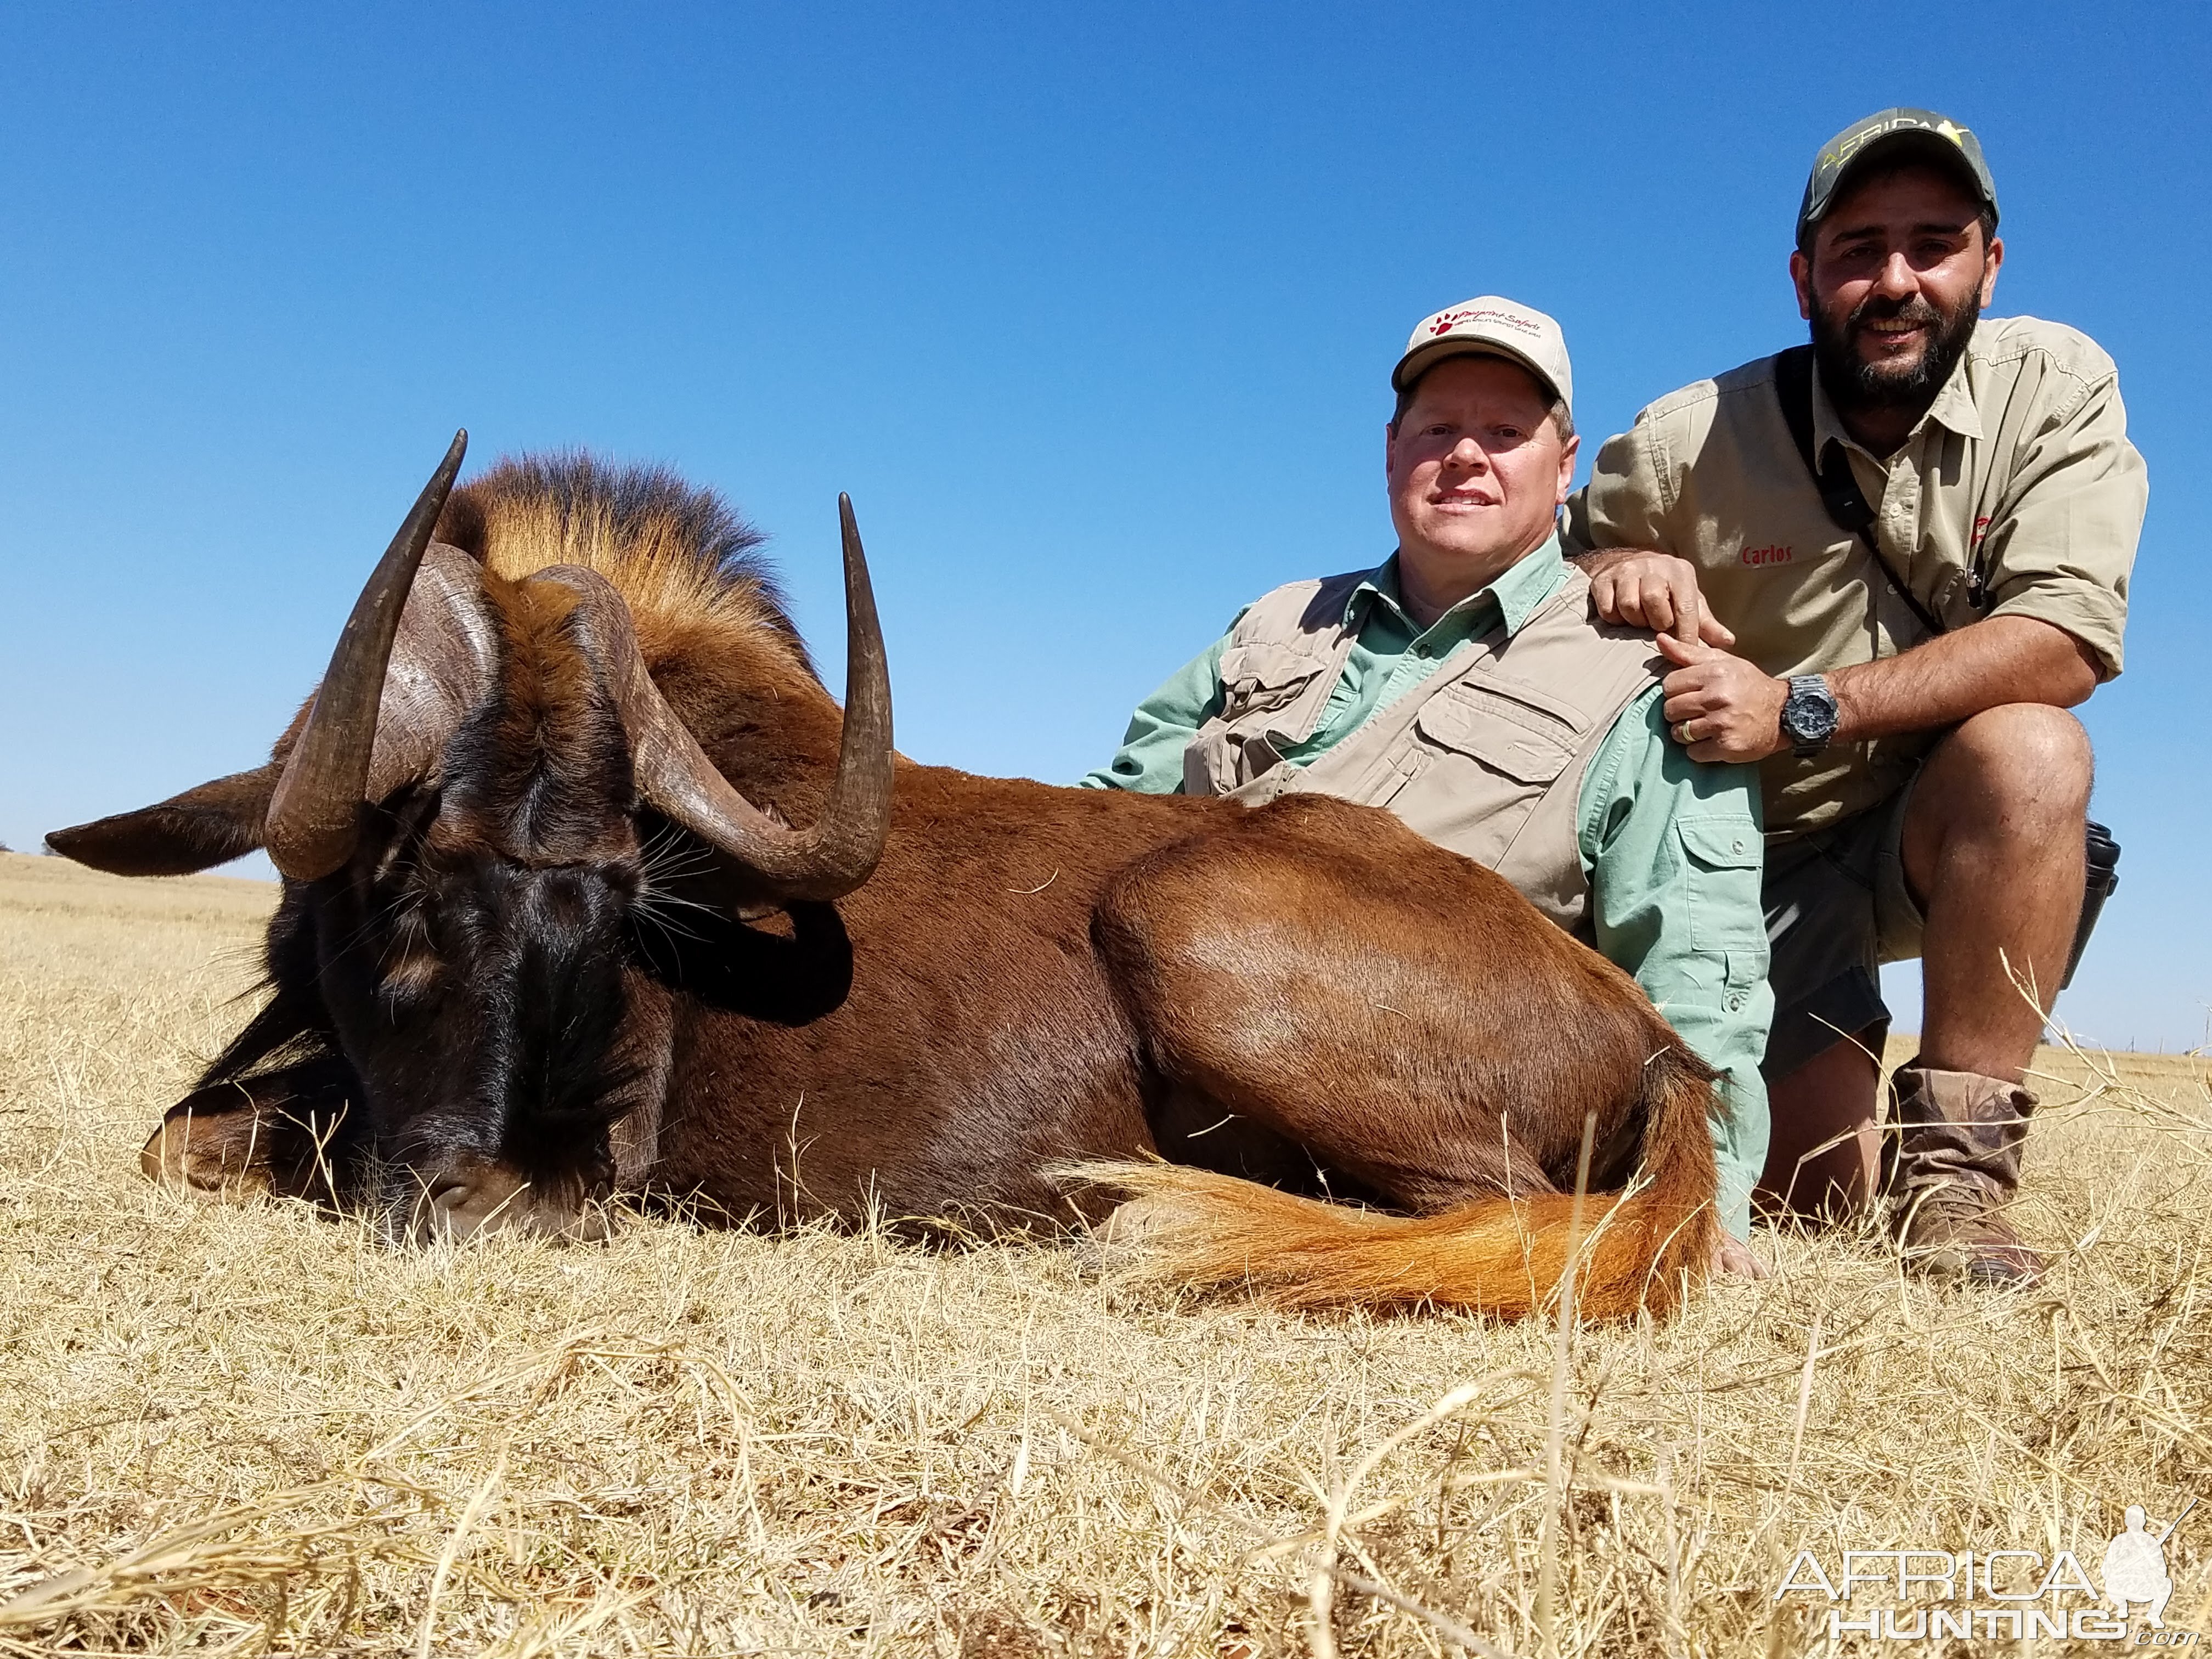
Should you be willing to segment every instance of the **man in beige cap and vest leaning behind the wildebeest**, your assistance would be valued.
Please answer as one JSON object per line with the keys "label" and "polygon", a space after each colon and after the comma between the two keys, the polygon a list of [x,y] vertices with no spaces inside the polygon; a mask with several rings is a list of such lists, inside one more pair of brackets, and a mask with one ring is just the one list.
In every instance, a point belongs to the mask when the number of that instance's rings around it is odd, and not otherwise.
{"label": "man in beige cap and vest leaning behind the wildebeest", "polygon": [[1254,805],[1318,790],[1502,874],[1725,1073],[1721,1265],[1752,1272],[1772,1011],[1756,776],[1668,741],[1652,637],[1601,626],[1559,557],[1575,476],[1559,325],[1471,299],[1413,330],[1391,385],[1398,551],[1245,606],[1084,781]]}

